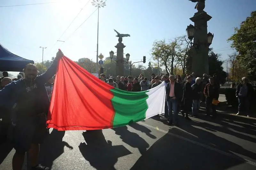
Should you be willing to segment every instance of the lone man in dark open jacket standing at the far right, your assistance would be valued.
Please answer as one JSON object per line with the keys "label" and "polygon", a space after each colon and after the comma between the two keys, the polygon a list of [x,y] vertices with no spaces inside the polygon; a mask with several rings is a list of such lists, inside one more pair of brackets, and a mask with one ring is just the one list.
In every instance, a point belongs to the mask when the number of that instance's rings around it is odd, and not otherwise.
{"label": "lone man in dark open jacket standing at the far right", "polygon": [[240,115],[245,110],[247,117],[250,117],[251,102],[254,101],[254,95],[253,87],[249,83],[248,78],[242,78],[242,82],[236,88],[236,97],[238,98],[238,113],[236,115]]}

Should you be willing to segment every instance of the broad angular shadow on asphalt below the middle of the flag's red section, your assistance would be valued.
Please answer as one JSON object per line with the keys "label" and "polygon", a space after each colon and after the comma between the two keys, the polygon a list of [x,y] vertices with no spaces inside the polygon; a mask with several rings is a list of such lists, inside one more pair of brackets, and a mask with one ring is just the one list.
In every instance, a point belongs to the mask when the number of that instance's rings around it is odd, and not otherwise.
{"label": "broad angular shadow on asphalt below the middle of the flag's red section", "polygon": [[115,170],[117,159],[132,153],[123,145],[112,146],[111,141],[105,140],[102,130],[88,130],[83,136],[85,142],[80,143],[79,150],[97,170]]}

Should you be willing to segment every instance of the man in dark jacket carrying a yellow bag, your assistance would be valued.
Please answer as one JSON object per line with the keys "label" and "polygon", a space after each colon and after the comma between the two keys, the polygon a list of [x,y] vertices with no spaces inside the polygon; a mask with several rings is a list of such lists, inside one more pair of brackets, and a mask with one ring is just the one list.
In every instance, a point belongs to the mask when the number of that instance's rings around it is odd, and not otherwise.
{"label": "man in dark jacket carrying a yellow bag", "polygon": [[210,107],[212,107],[212,118],[216,117],[216,105],[212,104],[212,100],[219,99],[219,85],[215,84],[214,78],[209,78],[210,83],[205,85],[204,96],[206,97],[206,114],[210,116]]}

